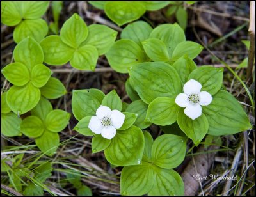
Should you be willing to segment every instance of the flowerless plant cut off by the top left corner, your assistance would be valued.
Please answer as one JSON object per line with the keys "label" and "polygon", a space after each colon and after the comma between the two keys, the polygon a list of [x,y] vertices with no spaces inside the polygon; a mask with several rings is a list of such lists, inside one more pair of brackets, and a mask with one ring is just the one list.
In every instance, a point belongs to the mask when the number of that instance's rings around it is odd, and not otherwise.
{"label": "flowerless plant cut off by the top left corner", "polygon": [[41,19],[48,6],[49,1],[1,1],[1,22],[15,26],[16,43],[28,36],[40,42],[48,33],[47,23]]}

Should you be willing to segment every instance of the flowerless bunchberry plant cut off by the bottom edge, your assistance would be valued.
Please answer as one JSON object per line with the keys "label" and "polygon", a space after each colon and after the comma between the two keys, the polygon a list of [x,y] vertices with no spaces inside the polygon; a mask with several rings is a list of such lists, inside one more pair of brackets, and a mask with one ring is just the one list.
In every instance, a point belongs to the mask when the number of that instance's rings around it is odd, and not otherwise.
{"label": "flowerless bunchberry plant cut off by the bottom edge", "polygon": [[144,131],[145,149],[140,165],[125,166],[121,173],[122,195],[182,196],[184,184],[173,170],[184,160],[186,139],[164,134],[153,141]]}

